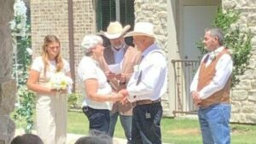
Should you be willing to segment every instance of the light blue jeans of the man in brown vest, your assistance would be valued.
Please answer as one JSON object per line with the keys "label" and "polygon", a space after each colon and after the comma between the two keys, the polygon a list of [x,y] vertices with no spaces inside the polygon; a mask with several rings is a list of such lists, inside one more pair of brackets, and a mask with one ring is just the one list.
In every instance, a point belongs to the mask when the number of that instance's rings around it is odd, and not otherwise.
{"label": "light blue jeans of the man in brown vest", "polygon": [[198,117],[204,144],[230,144],[230,104],[200,108]]}

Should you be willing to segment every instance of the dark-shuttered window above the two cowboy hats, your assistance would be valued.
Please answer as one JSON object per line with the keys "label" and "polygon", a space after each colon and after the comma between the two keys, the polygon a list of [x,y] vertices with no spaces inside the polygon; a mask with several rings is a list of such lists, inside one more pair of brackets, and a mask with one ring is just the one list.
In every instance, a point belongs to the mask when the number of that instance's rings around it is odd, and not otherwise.
{"label": "dark-shuttered window above the two cowboy hats", "polygon": [[119,21],[122,26],[134,26],[134,0],[98,0],[97,30],[106,31],[110,21]]}

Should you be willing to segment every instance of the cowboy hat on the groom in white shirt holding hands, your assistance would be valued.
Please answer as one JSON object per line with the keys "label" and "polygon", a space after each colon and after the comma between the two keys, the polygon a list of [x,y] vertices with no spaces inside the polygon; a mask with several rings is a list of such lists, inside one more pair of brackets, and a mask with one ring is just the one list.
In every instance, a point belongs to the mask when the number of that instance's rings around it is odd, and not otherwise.
{"label": "cowboy hat on the groom in white shirt holding hands", "polygon": [[125,37],[148,36],[154,37],[154,26],[150,22],[137,22],[132,32],[128,32]]}

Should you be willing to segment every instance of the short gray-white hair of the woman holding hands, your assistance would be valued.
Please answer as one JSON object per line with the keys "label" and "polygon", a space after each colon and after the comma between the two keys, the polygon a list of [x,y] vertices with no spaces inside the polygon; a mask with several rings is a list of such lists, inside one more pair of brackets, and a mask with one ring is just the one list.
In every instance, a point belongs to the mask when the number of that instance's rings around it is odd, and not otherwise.
{"label": "short gray-white hair of the woman holding hands", "polygon": [[91,49],[96,48],[97,44],[102,44],[102,37],[97,36],[95,34],[89,34],[84,36],[83,41],[81,43],[81,47],[84,49],[85,55],[91,55]]}

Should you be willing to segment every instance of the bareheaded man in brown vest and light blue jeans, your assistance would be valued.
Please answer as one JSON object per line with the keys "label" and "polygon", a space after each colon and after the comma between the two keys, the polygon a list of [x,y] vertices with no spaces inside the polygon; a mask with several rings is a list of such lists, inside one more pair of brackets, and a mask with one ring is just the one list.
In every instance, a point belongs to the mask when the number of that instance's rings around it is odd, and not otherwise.
{"label": "bareheaded man in brown vest and light blue jeans", "polygon": [[190,85],[204,144],[230,144],[230,85],[233,62],[218,28],[207,29],[208,51]]}

